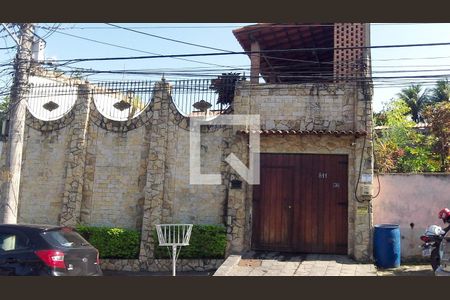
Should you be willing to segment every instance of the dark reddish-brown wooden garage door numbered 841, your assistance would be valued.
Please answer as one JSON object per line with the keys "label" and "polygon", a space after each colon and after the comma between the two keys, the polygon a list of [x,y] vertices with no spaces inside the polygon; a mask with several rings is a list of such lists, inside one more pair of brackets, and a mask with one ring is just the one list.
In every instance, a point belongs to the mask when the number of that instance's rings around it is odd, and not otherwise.
{"label": "dark reddish-brown wooden garage door numbered 841", "polygon": [[346,155],[261,154],[253,248],[346,254],[347,164]]}

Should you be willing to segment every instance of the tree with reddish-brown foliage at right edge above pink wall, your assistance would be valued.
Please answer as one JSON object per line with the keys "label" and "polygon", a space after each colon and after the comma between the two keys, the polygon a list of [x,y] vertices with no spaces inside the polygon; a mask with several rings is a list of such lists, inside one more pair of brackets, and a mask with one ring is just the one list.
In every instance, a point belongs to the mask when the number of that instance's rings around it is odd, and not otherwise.
{"label": "tree with reddish-brown foliage at right edge above pink wall", "polygon": [[437,140],[440,156],[440,171],[450,171],[450,102],[440,102],[430,105],[424,112],[427,122],[431,125],[431,132]]}

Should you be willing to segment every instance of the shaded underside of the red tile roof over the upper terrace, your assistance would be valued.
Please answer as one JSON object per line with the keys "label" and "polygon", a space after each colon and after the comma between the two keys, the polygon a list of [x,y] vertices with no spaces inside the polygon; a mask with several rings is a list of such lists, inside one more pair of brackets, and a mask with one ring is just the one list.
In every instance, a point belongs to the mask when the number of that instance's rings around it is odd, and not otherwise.
{"label": "shaded underside of the red tile roof over the upper terrace", "polygon": [[[332,49],[291,51],[302,48],[333,48],[334,24],[273,24],[262,23],[233,30],[233,34],[246,52],[257,41],[261,51],[260,73],[266,82],[311,82],[332,77],[334,52]],[[273,76],[271,76],[273,75]],[[309,76],[309,77],[308,77]],[[323,81],[323,79],[319,80]]]}

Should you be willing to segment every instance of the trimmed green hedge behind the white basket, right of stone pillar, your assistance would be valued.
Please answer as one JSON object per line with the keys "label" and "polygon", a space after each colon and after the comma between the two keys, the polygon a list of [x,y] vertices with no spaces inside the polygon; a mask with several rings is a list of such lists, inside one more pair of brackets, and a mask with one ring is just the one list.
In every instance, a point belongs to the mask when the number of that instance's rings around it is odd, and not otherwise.
{"label": "trimmed green hedge behind the white basket, right of stone pillar", "polygon": [[[160,247],[156,229],[153,230],[155,257],[169,258],[167,247]],[[222,225],[194,225],[189,246],[181,247],[179,258],[224,258],[227,246],[226,229]],[[170,249],[172,251],[172,249]]]}

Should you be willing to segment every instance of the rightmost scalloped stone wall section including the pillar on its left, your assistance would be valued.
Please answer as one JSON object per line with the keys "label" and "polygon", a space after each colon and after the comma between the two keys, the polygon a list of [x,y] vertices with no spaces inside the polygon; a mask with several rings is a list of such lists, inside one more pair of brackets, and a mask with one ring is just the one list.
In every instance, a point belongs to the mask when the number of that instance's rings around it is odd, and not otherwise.
{"label": "rightmost scalloped stone wall section including the pillar on its left", "polygon": [[[154,116],[149,133],[149,154],[143,207],[140,268],[158,266],[154,259],[152,230],[156,224],[220,224],[224,212],[225,184],[189,184],[189,119],[183,117],[168,96],[168,86],[153,99]],[[156,111],[156,108],[158,110]],[[158,113],[156,113],[158,112]],[[222,130],[208,128],[201,141],[202,169],[221,171],[223,165]],[[161,265],[161,268],[164,266]]]}

